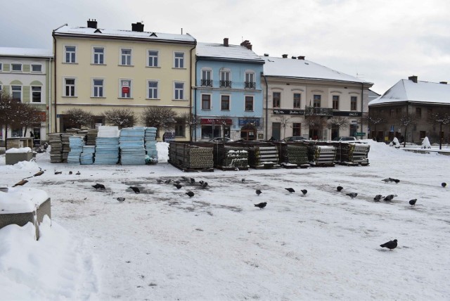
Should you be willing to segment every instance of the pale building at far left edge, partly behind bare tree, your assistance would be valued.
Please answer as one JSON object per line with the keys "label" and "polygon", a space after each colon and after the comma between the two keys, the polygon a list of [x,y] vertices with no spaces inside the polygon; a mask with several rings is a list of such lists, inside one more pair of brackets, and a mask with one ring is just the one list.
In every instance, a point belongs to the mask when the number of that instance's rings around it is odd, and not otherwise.
{"label": "pale building at far left edge, partly behind bare tree", "polygon": [[[0,90],[36,106],[41,117],[41,122],[32,124],[27,133],[23,128],[8,129],[8,137],[33,136],[37,144],[46,140],[50,131],[52,65],[51,49],[0,47]],[[1,129],[0,135],[0,140],[4,140],[5,129]]]}

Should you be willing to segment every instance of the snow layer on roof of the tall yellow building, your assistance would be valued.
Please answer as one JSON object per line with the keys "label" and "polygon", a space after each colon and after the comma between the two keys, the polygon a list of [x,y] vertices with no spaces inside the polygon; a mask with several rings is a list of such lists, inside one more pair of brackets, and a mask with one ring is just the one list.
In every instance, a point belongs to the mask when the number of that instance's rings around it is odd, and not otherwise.
{"label": "snow layer on roof of the tall yellow building", "polygon": [[108,30],[91,27],[71,27],[65,25],[54,31],[55,35],[80,35],[124,39],[166,40],[193,43],[195,39],[189,34],[165,34],[160,32],[134,32],[132,30]]}

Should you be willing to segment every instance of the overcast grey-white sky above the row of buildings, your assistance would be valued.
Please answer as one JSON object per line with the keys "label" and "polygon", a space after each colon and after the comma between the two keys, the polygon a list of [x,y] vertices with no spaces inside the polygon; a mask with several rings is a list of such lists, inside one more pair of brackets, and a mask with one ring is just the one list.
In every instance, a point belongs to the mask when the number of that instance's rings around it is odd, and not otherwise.
{"label": "overcast grey-white sky above the row of buildings", "polygon": [[383,94],[411,75],[450,83],[449,15],[448,0],[1,0],[0,46],[51,49],[52,30],[89,18],[117,30],[143,21],[145,31],[306,56]]}

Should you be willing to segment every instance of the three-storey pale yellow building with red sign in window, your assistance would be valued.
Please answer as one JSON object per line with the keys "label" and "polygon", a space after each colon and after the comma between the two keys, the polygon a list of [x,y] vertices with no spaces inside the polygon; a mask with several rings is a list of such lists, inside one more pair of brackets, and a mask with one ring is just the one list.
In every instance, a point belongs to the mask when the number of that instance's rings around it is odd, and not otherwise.
{"label": "three-storey pale yellow building with red sign in window", "polygon": [[[132,110],[136,125],[143,125],[140,116],[149,106],[189,113],[195,44],[189,34],[144,32],[141,23],[107,30],[89,20],[87,27],[53,30],[53,132],[72,127],[65,117],[70,108],[89,111],[94,124],[105,124],[102,115],[113,108]],[[188,140],[188,130],[177,120],[173,132],[177,140]]]}

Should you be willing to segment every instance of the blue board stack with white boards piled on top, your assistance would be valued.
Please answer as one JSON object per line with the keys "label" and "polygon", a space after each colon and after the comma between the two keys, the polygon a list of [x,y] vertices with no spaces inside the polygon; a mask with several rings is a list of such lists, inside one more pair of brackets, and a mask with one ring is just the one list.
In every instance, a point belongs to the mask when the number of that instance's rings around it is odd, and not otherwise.
{"label": "blue board stack with white boards piled on top", "polygon": [[98,127],[94,165],[119,162],[119,128]]}

